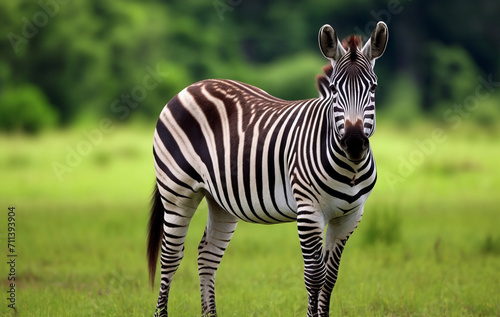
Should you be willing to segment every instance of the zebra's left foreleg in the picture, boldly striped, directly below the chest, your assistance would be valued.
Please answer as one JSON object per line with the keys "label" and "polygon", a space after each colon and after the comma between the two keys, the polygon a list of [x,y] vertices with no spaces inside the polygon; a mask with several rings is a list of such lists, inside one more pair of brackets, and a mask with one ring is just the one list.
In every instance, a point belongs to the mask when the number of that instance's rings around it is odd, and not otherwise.
{"label": "zebra's left foreleg in the picture, boldly striped, directly below the chest", "polygon": [[325,228],[323,216],[316,212],[299,212],[297,227],[304,258],[304,281],[308,294],[307,317],[317,317],[319,294],[326,276],[323,257]]}

